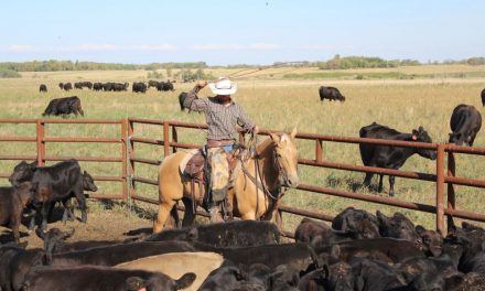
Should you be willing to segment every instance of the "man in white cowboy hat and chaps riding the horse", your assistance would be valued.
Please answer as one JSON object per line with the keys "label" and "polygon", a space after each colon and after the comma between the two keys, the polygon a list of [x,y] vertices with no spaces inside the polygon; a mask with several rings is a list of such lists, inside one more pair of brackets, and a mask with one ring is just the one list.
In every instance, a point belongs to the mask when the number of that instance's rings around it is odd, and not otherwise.
{"label": "man in white cowboy hat and chaps riding the horse", "polygon": [[258,133],[258,127],[230,98],[230,95],[236,93],[237,85],[231,83],[228,77],[219,77],[216,83],[208,84],[215,97],[198,98],[197,93],[206,85],[206,80],[200,80],[187,94],[183,105],[190,111],[205,114],[208,126],[207,159],[211,166],[211,186],[208,187],[211,195],[207,208],[211,222],[220,222],[220,203],[227,198],[229,183],[229,164],[226,154],[236,144],[236,125],[254,134]]}

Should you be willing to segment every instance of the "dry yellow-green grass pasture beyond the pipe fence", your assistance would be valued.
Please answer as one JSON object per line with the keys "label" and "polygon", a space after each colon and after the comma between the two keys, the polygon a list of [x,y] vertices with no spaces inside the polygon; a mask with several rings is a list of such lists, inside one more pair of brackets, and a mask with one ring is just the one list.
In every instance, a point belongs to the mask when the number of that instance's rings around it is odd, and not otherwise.
{"label": "dry yellow-green grass pasture beyond the pipe fence", "polygon": [[[214,76],[230,75],[238,69],[205,69]],[[250,71],[247,71],[250,72]],[[166,76],[166,72],[163,72]],[[84,118],[125,118],[140,117],[187,122],[204,122],[204,116],[181,112],[177,96],[188,90],[194,84],[175,84],[173,93],[159,93],[150,89],[146,95],[131,93],[96,93],[90,90],[62,91],[60,82],[129,82],[148,80],[146,71],[122,72],[31,72],[22,73],[22,78],[0,79],[2,107],[0,118],[39,118],[52,98],[76,95],[82,99],[86,112]],[[242,73],[241,73],[242,74]],[[363,79],[356,78],[362,75]],[[399,76],[412,76],[400,78]],[[366,77],[367,76],[367,77]],[[47,94],[39,93],[39,85],[46,84]],[[336,86],[346,96],[345,104],[321,103],[317,88],[321,85]],[[459,104],[473,105],[482,115],[484,109],[479,93],[485,87],[485,67],[483,66],[417,66],[385,69],[320,71],[317,68],[268,68],[238,79],[238,93],[234,99],[247,114],[265,129],[291,130],[298,127],[300,132],[314,132],[357,137],[358,130],[374,121],[387,125],[402,132],[423,126],[436,142],[446,142],[450,132],[449,120],[453,108]],[[204,89],[200,97],[211,95]],[[54,118],[54,117],[53,117]],[[1,136],[33,136],[32,126],[4,126]],[[48,126],[50,136],[112,137],[118,129],[111,126]],[[137,134],[162,138],[161,128],[139,127]],[[202,130],[183,130],[180,140],[203,142],[205,132]],[[475,147],[485,148],[485,137],[479,132]],[[314,144],[299,142],[300,155],[314,158]],[[358,147],[341,143],[324,143],[324,159],[334,162],[362,164]],[[0,143],[2,154],[34,153],[34,144]],[[48,144],[50,154],[64,155],[118,155],[119,148],[110,146],[85,144]],[[138,153],[140,152],[140,153]],[[161,159],[162,149],[137,146],[137,154],[142,158]],[[0,161],[0,172],[11,172],[14,162]],[[83,168],[95,175],[120,174],[120,169],[109,163],[83,163]],[[418,155],[408,160],[402,170],[434,172],[435,162]],[[137,165],[137,174],[157,179],[157,169]],[[363,173],[351,173],[337,170],[315,170],[300,168],[302,183],[333,186],[352,191],[364,180]],[[457,175],[472,179],[485,179],[485,158],[457,155]],[[377,179],[374,180],[377,183]],[[7,180],[0,181],[7,184]],[[120,190],[119,184],[99,182],[100,193],[114,193]],[[157,196],[151,186],[139,186],[139,191]],[[359,192],[368,192],[358,188]],[[385,192],[388,180],[385,179]],[[456,187],[457,207],[460,209],[485,213],[484,190]],[[398,198],[433,204],[435,187],[433,183],[396,179]],[[479,195],[482,194],[482,195]],[[377,195],[377,194],[374,194]],[[382,193],[381,195],[387,195]],[[332,196],[308,194],[291,191],[284,197],[285,204],[336,214],[346,206],[362,207],[369,212],[384,209],[395,211],[377,204],[349,202]],[[433,227],[432,216],[403,211],[413,220]],[[294,226],[297,218],[287,216],[289,227]]]}

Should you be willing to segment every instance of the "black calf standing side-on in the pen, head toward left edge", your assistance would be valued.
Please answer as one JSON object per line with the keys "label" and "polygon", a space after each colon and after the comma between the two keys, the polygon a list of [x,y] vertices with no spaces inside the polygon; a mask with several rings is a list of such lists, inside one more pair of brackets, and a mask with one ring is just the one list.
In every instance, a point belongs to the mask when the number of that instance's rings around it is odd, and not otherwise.
{"label": "black calf standing side-on in the pen, head toward left edge", "polygon": [[[51,204],[56,201],[67,201],[75,196],[82,209],[82,222],[87,220],[86,197],[83,192],[83,174],[79,163],[74,160],[58,162],[51,166],[36,166],[35,162],[22,161],[15,165],[10,182],[18,185],[23,181],[32,181],[37,185],[34,196],[36,207],[42,206],[42,230],[47,228],[47,216]],[[68,205],[64,205],[69,208]],[[30,229],[34,226],[32,219]]]}

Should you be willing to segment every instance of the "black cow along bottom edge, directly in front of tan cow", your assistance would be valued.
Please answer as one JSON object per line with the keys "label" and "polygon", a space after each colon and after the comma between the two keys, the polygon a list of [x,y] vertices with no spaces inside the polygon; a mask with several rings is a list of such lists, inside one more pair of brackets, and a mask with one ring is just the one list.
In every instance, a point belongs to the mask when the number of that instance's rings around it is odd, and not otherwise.
{"label": "black cow along bottom edge, directly in front of tan cow", "polygon": [[190,287],[195,273],[174,280],[161,272],[123,270],[107,267],[37,267],[25,277],[24,290],[114,290],[114,291],[174,291]]}

